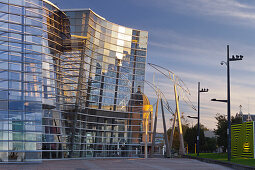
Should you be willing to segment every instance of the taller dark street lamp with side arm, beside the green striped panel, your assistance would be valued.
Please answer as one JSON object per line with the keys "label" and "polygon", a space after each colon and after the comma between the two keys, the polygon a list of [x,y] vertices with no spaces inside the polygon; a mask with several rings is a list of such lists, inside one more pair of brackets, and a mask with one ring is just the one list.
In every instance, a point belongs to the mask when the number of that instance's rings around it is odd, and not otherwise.
{"label": "taller dark street lamp with side arm, beside the green striped panel", "polygon": [[212,99],[211,101],[226,102],[228,104],[228,128],[227,128],[227,138],[228,138],[228,161],[231,159],[231,115],[230,115],[230,71],[229,71],[229,61],[238,61],[242,60],[242,55],[232,55],[232,58],[229,58],[229,45],[227,45],[227,62],[222,61],[220,64],[227,65],[227,100],[216,100]]}

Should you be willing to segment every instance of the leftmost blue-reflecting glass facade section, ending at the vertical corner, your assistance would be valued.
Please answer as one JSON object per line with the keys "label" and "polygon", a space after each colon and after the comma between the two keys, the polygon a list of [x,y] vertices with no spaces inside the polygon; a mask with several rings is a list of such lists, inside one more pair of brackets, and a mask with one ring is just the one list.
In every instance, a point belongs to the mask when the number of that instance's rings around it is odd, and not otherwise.
{"label": "leftmost blue-reflecting glass facade section, ending at the vertical corner", "polygon": [[0,1],[0,161],[38,161],[42,135],[42,2]]}

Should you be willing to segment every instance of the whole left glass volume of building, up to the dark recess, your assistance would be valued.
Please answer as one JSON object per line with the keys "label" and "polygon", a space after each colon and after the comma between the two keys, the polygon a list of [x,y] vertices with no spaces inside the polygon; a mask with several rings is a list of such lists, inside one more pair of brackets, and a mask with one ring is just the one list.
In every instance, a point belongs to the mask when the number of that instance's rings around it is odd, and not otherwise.
{"label": "whole left glass volume of building, up to the dark recess", "polygon": [[40,161],[42,149],[54,145],[57,135],[50,134],[59,134],[52,126],[60,128],[65,23],[65,14],[46,1],[0,0],[2,162]]}

